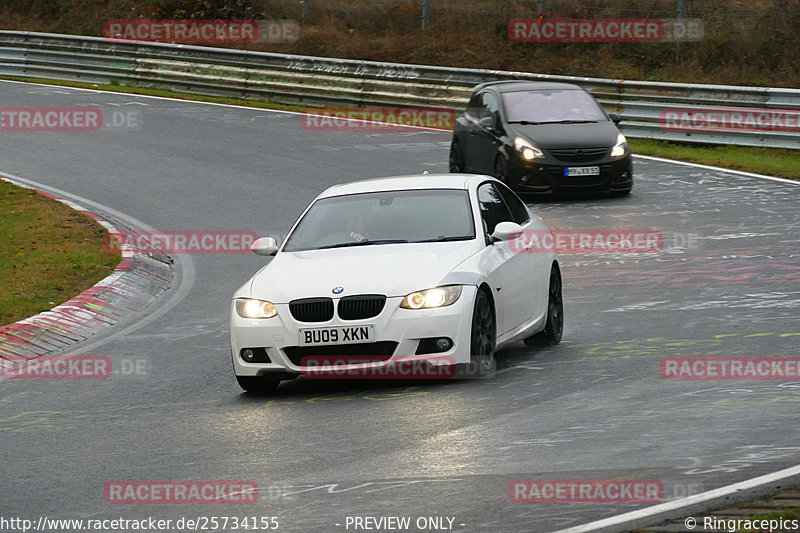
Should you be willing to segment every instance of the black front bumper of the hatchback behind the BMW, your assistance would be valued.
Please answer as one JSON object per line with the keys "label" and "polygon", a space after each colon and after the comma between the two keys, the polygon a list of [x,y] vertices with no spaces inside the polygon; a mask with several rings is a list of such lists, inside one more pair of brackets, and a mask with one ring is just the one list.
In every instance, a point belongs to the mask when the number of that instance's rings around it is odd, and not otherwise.
{"label": "black front bumper of the hatchback behind the BMW", "polygon": [[[569,167],[600,167],[596,176],[565,176]],[[633,187],[630,155],[619,159],[567,163],[548,157],[541,162],[514,158],[509,164],[509,184],[519,192],[540,194],[628,192]]]}

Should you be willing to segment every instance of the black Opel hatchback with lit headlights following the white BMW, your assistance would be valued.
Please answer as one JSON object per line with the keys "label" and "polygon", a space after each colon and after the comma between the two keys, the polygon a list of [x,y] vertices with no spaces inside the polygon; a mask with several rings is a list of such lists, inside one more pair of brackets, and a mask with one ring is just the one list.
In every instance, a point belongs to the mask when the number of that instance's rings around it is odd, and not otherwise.
{"label": "black Opel hatchback with lit headlights following the white BMW", "polygon": [[489,174],[518,192],[628,194],[633,167],[620,120],[577,85],[484,83],[456,119],[450,172]]}

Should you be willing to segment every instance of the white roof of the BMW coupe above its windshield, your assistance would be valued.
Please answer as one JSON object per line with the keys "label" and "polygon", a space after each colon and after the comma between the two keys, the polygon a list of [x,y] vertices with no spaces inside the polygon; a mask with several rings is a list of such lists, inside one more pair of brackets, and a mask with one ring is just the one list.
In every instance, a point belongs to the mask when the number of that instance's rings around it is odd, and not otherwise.
{"label": "white roof of the BMW coupe above its windshield", "polygon": [[318,198],[342,196],[380,191],[420,190],[420,189],[459,189],[469,190],[486,180],[489,176],[479,174],[410,174],[386,178],[371,178],[329,187]]}

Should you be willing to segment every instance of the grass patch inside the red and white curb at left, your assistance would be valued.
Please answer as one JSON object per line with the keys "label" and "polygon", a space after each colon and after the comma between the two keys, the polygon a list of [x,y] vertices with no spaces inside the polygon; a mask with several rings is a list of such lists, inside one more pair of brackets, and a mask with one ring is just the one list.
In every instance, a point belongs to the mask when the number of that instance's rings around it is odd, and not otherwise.
{"label": "grass patch inside the red and white curb at left", "polygon": [[108,276],[106,230],[36,191],[0,180],[0,325],[69,300]]}

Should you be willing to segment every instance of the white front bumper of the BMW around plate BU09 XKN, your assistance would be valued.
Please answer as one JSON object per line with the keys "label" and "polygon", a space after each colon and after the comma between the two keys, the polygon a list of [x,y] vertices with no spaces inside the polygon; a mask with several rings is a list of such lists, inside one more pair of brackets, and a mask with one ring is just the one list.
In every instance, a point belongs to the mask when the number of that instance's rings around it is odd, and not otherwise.
{"label": "white front bumper of the BMW around plate BU09 XKN", "polygon": [[[326,322],[299,322],[289,312],[288,304],[276,304],[278,314],[267,319],[242,318],[231,302],[230,337],[233,369],[237,376],[293,377],[305,370],[304,357],[317,355],[380,356],[381,362],[370,363],[373,368],[389,365],[399,359],[417,354],[422,339],[447,337],[453,341],[445,352],[431,354],[436,358],[455,363],[470,360],[470,334],[472,312],[477,287],[464,286],[461,296],[452,305],[437,309],[403,309],[402,297],[386,299],[380,314],[365,320],[342,320],[334,315]],[[334,303],[336,299],[334,299]],[[338,306],[335,306],[338,307]],[[299,344],[300,328],[330,326],[373,325],[375,343],[325,345],[310,348]],[[263,348],[269,362],[247,362],[241,352],[245,348]],[[375,352],[375,353],[372,353]],[[344,365],[344,368],[359,369],[363,364]]]}

